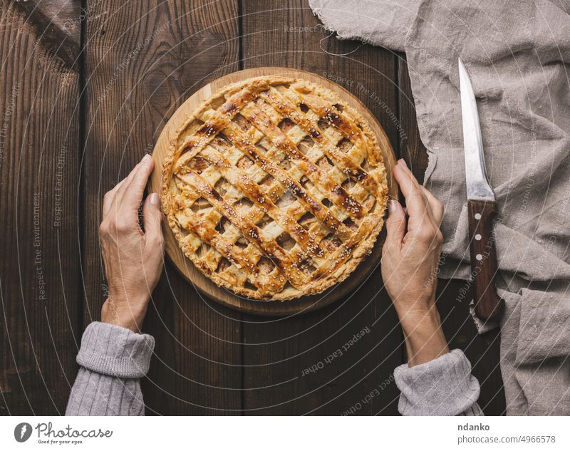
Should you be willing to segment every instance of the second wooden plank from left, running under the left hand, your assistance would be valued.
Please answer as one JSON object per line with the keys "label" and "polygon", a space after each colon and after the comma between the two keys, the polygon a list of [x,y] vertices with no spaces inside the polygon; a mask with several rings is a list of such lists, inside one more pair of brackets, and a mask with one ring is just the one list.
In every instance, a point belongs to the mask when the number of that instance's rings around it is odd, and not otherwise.
{"label": "second wooden plank from left, running under the left hand", "polygon": [[[105,299],[98,224],[104,193],[154,147],[176,108],[237,70],[237,2],[88,1],[85,152],[85,323]],[[239,315],[211,306],[167,262],[145,331],[157,339],[143,383],[147,413],[238,410]],[[225,410],[219,410],[225,409]]]}

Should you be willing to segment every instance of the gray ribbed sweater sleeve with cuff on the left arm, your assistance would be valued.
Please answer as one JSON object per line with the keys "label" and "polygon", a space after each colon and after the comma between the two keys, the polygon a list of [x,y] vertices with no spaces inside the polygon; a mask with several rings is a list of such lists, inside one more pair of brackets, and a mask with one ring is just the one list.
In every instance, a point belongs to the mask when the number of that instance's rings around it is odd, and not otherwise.
{"label": "gray ribbed sweater sleeve with cuff on the left arm", "polygon": [[146,375],[155,339],[108,323],[83,333],[66,415],[145,415],[139,379]]}

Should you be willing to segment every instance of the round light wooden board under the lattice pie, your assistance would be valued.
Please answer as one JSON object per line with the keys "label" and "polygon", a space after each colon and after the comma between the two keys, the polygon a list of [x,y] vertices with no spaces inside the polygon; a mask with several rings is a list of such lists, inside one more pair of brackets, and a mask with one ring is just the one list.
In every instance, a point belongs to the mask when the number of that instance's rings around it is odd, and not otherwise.
{"label": "round light wooden board under the lattice pie", "polygon": [[[180,127],[185,118],[190,115],[203,100],[210,98],[212,94],[217,92],[217,90],[223,88],[229,83],[242,81],[246,78],[269,75],[286,75],[304,78],[306,80],[313,81],[314,83],[319,83],[325,88],[337,93],[341,98],[343,98],[343,100],[346,100],[346,102],[353,105],[353,107],[356,108],[358,112],[363,115],[363,118],[365,118],[371,125],[373,132],[380,142],[384,164],[388,174],[389,195],[392,198],[398,197],[398,185],[395,183],[392,176],[392,170],[395,165],[395,155],[392,146],[390,145],[390,141],[388,140],[382,126],[378,123],[378,120],[376,120],[368,108],[366,108],[366,106],[353,94],[349,93],[348,90],[330,80],[327,80],[326,78],[310,72],[279,67],[252,68],[230,73],[227,76],[223,76],[222,78],[212,81],[212,83],[208,83],[204,88],[198,90],[188,100],[186,100],[185,103],[175,111],[170,120],[168,120],[156,142],[155,149],[152,152],[152,159],[155,161],[155,170],[152,172],[152,176],[150,177],[149,192],[160,193],[160,190],[162,189],[162,160],[165,155],[167,155],[168,147],[170,146],[172,139],[175,137],[177,128]],[[194,264],[192,264],[192,261],[187,259],[182,252],[182,249],[178,247],[176,238],[170,230],[166,219],[163,219],[162,221],[162,229],[165,233],[166,252],[170,256],[170,259],[172,259],[178,271],[180,271],[180,273],[185,276],[185,278],[202,294],[219,302],[220,304],[223,304],[224,306],[229,306],[232,309],[267,316],[293,315],[320,309],[323,306],[331,304],[337,299],[341,299],[351,291],[355,291],[358,289],[358,286],[366,281],[368,276],[371,274],[371,271],[378,265],[384,241],[384,232],[382,232],[375,243],[372,253],[361,262],[356,271],[348,276],[348,278],[341,284],[332,286],[321,294],[304,296],[302,298],[291,299],[289,301],[257,301],[237,296],[231,291],[214,284],[214,282],[196,269]]]}

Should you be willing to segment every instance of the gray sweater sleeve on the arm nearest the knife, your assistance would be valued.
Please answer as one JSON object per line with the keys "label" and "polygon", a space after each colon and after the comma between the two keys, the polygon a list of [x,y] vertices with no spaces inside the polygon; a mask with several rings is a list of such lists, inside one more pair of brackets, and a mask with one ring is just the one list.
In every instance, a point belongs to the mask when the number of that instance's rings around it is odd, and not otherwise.
{"label": "gray sweater sleeve on the arm nearest the knife", "polygon": [[411,368],[398,366],[394,380],[402,415],[483,415],[477,404],[479,381],[459,349]]}

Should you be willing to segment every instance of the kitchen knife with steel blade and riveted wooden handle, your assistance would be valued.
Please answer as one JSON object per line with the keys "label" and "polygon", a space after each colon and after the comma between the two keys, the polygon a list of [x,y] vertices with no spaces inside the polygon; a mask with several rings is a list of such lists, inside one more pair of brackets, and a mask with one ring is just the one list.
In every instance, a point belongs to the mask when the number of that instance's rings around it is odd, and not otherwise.
{"label": "kitchen knife with steel blade and riveted wooden handle", "polygon": [[497,274],[497,253],[492,234],[497,213],[494,193],[489,186],[483,154],[481,127],[477,102],[469,74],[459,59],[463,148],[465,150],[465,179],[467,182],[467,214],[471,252],[471,292],[475,313],[481,319],[497,318],[504,301],[497,294],[494,276]]}

